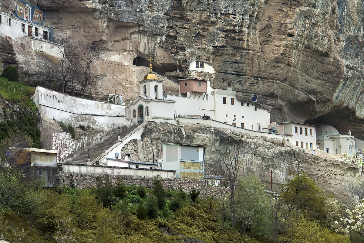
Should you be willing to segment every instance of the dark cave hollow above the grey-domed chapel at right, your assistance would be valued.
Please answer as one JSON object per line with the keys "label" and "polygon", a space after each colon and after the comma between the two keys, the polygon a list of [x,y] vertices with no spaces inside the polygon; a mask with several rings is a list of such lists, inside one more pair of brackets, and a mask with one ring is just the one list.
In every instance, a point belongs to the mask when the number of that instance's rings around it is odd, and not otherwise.
{"label": "dark cave hollow above the grey-domed chapel at right", "polygon": [[314,126],[329,125],[336,128],[340,134],[347,134],[349,130],[355,138],[364,139],[364,121],[351,110],[332,110],[319,117],[308,119],[305,124]]}

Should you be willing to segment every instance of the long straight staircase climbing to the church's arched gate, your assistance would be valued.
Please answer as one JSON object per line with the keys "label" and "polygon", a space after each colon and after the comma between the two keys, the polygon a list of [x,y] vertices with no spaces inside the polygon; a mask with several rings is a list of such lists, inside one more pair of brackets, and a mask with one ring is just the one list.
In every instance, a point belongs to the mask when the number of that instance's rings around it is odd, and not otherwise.
{"label": "long straight staircase climbing to the church's arched gate", "polygon": [[[132,130],[137,128],[140,124],[133,125],[130,128],[125,129],[120,132],[120,138],[127,136]],[[100,142],[99,144],[95,144],[90,148],[90,161],[93,161],[95,158],[100,156],[107,149],[111,148],[118,141],[118,133],[115,133],[108,137],[105,141]],[[88,161],[88,151],[87,149],[80,153],[74,160],[71,162],[74,164],[87,164]]]}

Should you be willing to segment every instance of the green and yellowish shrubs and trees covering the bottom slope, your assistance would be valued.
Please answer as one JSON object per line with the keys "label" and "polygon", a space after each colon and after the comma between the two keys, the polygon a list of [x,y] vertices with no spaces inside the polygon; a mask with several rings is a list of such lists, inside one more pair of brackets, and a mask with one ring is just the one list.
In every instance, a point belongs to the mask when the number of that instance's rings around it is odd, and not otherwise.
{"label": "green and yellowish shrubs and trees covering the bottom slope", "polygon": [[[292,181],[297,180],[296,177]],[[304,195],[308,199],[308,195],[317,196],[318,192],[309,177],[304,177],[302,202],[306,201]],[[159,176],[155,177],[152,188],[114,183],[108,175],[99,176],[96,187],[90,190],[42,189],[35,186],[39,183],[28,184],[27,181],[14,166],[0,171],[0,232],[10,242],[133,243],[142,240],[177,243],[190,237],[204,243],[268,243],[273,241],[273,221],[270,219],[274,218],[272,203],[277,201],[284,202],[278,211],[285,215],[280,223],[280,242],[350,242],[348,236],[336,234],[326,227],[343,213],[332,196],[321,194],[323,210],[315,218],[323,220],[316,220],[306,209],[296,213],[296,205],[292,210],[286,210],[291,200],[285,196],[294,197],[292,191],[295,189],[289,187],[292,183],[283,185],[287,189],[282,197],[269,198],[260,180],[252,175],[241,177],[237,183],[235,229],[228,217],[223,225],[222,200],[196,197],[193,201],[191,195],[196,195],[195,189],[190,193],[165,191],[160,188]],[[316,196],[314,199],[321,201]],[[228,203],[226,205],[229,207]],[[312,204],[307,205],[312,208]],[[352,242],[362,239],[357,234],[351,235]]]}

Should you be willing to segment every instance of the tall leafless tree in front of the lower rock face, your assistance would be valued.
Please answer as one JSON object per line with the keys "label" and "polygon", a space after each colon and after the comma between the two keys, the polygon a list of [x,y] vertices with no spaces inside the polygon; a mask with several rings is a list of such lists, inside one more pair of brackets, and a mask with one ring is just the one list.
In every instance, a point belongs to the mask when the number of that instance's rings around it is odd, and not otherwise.
{"label": "tall leafless tree in front of the lower rock face", "polygon": [[240,137],[223,137],[212,144],[211,150],[219,157],[219,161],[213,165],[213,171],[226,178],[230,189],[230,215],[234,228],[236,223],[235,187],[240,176],[240,169],[244,167],[246,161],[244,143]]}

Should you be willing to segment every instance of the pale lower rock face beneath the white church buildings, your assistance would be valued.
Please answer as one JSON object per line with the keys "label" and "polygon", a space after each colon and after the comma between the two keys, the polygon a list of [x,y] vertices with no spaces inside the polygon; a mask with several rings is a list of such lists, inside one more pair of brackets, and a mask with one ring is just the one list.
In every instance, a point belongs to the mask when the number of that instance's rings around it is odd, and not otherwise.
{"label": "pale lower rock face beneath the white church buildings", "polygon": [[[211,163],[219,161],[219,157],[211,152],[211,145],[227,136],[236,137],[219,129],[155,123],[145,127],[142,145],[145,159],[150,161],[153,160],[152,152],[155,160],[162,158],[161,142],[205,145],[205,170],[209,173]],[[282,140],[243,135],[242,152],[246,154],[247,159],[242,174],[254,173],[265,182],[267,189],[270,189],[272,170],[273,189],[279,188],[279,184],[284,183],[287,177],[295,175],[297,171],[293,149],[281,146],[281,143]],[[358,196],[364,197],[361,184],[356,180],[357,169],[351,164],[307,154],[302,161],[304,162],[300,171],[307,172],[324,193],[333,193],[337,199],[351,206],[359,202]]]}

